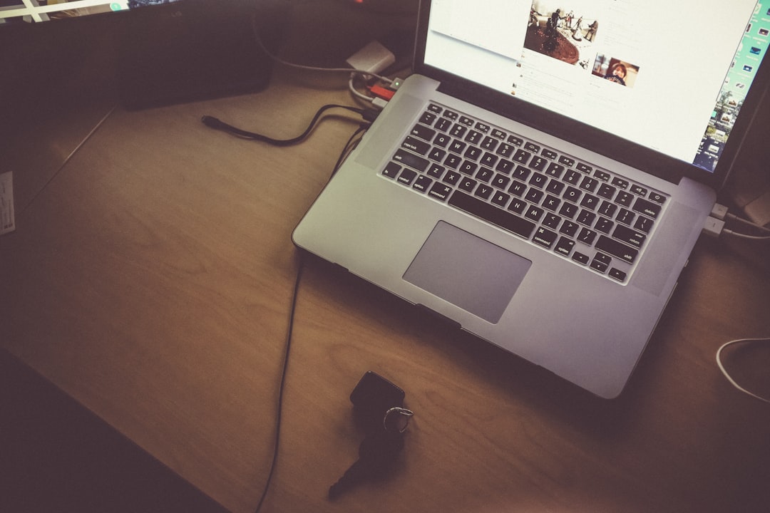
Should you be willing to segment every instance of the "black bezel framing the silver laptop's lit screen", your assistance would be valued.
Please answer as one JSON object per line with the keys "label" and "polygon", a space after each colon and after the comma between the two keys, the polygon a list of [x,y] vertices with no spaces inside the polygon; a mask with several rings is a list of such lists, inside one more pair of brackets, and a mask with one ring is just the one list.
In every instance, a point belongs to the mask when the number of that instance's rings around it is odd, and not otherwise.
{"label": "black bezel framing the silver laptop's lit screen", "polygon": [[[589,148],[593,152],[631,165],[669,182],[678,183],[682,177],[688,177],[712,188],[721,188],[727,180],[736,158],[738,158],[749,128],[762,104],[762,99],[768,92],[768,83],[770,83],[770,69],[768,68],[770,65],[765,65],[765,56],[763,56],[762,64],[759,65],[752,87],[743,102],[742,115],[738,117],[731,130],[731,135],[722,150],[715,170],[709,172],[695,164],[656,152],[618,135],[578,122],[574,118],[541,108],[521,98],[515,98],[477,82],[472,82],[467,78],[427,65],[425,52],[430,3],[430,0],[420,0],[414,72],[440,82],[440,92],[457,96],[481,108],[524,123],[564,141]],[[684,87],[685,84],[682,86]],[[469,98],[473,99],[470,100]]]}

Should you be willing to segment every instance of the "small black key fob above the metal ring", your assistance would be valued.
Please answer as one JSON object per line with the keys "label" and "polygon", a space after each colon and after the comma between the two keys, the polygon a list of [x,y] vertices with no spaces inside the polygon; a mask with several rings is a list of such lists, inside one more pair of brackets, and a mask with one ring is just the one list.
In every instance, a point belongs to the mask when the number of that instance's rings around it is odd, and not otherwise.
{"label": "small black key fob above the metal ring", "polygon": [[373,371],[367,371],[350,392],[350,402],[357,421],[367,431],[383,428],[383,419],[390,408],[402,408],[406,393]]}

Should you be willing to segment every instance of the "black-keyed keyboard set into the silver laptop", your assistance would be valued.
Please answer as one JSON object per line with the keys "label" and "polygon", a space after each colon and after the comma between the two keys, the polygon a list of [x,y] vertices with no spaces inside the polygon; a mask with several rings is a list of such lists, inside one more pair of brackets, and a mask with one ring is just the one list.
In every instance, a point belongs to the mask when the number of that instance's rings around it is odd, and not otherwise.
{"label": "black-keyed keyboard set into the silver laptop", "polygon": [[626,282],[666,196],[430,104],[382,175]]}

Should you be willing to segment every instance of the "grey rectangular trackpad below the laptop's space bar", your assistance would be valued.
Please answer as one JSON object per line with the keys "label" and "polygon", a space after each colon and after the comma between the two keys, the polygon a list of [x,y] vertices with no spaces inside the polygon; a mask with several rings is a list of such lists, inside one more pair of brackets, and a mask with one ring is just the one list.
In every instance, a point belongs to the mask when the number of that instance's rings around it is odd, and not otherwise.
{"label": "grey rectangular trackpad below the laptop's space bar", "polygon": [[531,264],[526,258],[440,221],[403,279],[497,323]]}

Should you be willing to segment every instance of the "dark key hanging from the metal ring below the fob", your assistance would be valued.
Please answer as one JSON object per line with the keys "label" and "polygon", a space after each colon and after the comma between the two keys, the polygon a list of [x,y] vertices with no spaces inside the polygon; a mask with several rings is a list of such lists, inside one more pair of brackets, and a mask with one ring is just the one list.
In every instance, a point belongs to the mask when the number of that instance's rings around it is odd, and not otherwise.
{"label": "dark key hanging from the metal ring below the fob", "polygon": [[368,435],[358,449],[358,460],[329,488],[329,498],[337,498],[360,482],[383,475],[402,448],[403,433],[398,431],[383,429]]}

